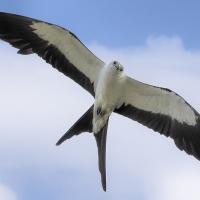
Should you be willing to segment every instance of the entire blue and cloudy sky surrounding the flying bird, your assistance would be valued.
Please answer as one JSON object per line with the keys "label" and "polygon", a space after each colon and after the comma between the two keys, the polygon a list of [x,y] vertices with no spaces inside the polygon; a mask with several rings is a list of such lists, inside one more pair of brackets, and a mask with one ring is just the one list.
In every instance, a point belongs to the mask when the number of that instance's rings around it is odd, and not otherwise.
{"label": "entire blue and cloudy sky surrounding the flying bird", "polygon": [[[170,88],[200,111],[198,1],[6,0],[0,11],[59,24],[105,62]],[[0,41],[0,199],[197,200],[200,164],[173,141],[112,114],[103,192],[93,136],[57,147],[93,98],[36,55]]]}

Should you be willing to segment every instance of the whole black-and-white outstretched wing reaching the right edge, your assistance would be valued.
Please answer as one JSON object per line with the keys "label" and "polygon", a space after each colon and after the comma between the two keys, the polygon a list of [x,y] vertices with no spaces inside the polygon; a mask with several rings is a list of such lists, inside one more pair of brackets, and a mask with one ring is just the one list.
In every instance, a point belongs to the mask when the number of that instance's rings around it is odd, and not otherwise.
{"label": "whole black-and-white outstretched wing reaching the right edge", "polygon": [[115,112],[174,139],[176,146],[200,160],[200,116],[182,97],[129,77]]}

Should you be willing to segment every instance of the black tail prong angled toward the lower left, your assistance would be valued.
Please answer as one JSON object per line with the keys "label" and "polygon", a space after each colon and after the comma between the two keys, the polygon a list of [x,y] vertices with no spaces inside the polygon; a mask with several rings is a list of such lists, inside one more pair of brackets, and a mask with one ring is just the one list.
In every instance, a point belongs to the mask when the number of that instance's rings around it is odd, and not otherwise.
{"label": "black tail prong angled toward the lower left", "polygon": [[56,145],[60,145],[65,140],[74,135],[79,135],[82,132],[92,132],[93,107],[94,105],[84,113],[84,115],[58,140]]}

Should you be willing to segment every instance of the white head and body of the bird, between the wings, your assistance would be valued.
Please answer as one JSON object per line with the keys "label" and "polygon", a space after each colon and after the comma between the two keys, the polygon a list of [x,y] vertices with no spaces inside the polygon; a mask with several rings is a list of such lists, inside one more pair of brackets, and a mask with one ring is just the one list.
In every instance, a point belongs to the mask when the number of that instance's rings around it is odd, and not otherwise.
{"label": "white head and body of the bird, between the wings", "polygon": [[120,104],[125,75],[123,70],[116,70],[117,66],[122,67],[117,61],[113,61],[103,68],[99,74],[95,89],[94,133],[98,133],[105,126],[109,116],[115,110],[115,105]]}

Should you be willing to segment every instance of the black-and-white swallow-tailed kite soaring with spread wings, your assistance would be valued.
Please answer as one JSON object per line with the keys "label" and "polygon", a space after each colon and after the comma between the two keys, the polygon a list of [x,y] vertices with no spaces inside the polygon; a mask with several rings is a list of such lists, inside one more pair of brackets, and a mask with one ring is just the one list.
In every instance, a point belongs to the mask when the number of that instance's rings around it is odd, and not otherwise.
{"label": "black-and-white swallow-tailed kite soaring with spread wings", "polygon": [[113,112],[173,139],[181,151],[200,160],[200,115],[174,91],[131,78],[119,61],[105,63],[74,33],[55,24],[0,12],[0,39],[19,54],[37,54],[93,96],[93,105],[56,145],[83,132],[91,133],[104,191],[107,129]]}

